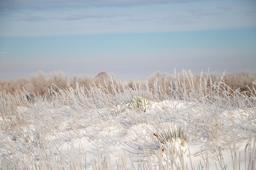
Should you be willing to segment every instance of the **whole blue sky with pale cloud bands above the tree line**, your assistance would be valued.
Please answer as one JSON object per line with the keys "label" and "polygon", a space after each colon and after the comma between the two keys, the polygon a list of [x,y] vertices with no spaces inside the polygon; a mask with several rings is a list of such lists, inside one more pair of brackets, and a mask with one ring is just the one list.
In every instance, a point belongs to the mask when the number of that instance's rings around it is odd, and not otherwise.
{"label": "whole blue sky with pale cloud bands above the tree line", "polygon": [[0,80],[256,70],[255,0],[0,0]]}

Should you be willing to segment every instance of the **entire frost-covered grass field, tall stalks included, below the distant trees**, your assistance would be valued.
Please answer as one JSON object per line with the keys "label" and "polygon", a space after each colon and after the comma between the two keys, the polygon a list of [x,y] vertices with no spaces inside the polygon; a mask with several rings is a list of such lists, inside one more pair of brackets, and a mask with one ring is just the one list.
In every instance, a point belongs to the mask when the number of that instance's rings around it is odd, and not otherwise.
{"label": "entire frost-covered grass field, tall stalks included, below the distant trees", "polygon": [[170,87],[112,80],[34,102],[1,92],[0,169],[255,170],[255,88],[183,77],[189,89],[174,75]]}

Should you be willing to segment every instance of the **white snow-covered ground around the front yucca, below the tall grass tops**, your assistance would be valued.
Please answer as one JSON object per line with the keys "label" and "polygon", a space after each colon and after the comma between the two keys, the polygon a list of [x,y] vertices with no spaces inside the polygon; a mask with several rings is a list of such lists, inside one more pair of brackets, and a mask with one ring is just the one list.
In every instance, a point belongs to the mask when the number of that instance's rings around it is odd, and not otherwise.
{"label": "white snow-covered ground around the front yucca, below the tall grass tops", "polygon": [[[255,168],[255,107],[163,100],[143,112],[127,101],[94,108],[38,103],[1,113],[0,169]],[[154,133],[178,126],[188,143],[178,139],[162,150]]]}

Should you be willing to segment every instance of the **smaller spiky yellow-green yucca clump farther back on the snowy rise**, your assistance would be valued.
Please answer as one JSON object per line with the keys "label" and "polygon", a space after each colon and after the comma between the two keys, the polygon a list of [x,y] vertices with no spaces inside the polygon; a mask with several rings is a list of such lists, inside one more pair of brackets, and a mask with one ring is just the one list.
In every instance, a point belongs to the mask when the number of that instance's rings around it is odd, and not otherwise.
{"label": "smaller spiky yellow-green yucca clump farther back on the snowy rise", "polygon": [[129,107],[131,109],[137,109],[139,111],[146,112],[149,110],[154,102],[152,100],[148,100],[142,96],[136,96],[129,100]]}

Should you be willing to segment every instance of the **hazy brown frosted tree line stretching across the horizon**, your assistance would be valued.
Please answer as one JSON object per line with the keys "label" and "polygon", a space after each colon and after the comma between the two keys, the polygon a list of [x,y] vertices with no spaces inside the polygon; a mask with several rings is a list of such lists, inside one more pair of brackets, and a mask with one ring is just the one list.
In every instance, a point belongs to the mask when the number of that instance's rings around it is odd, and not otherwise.
{"label": "hazy brown frosted tree line stretching across the horizon", "polygon": [[[190,73],[190,74],[188,74]],[[187,89],[194,88],[197,90],[200,86],[204,86],[202,82],[209,83],[219,82],[222,74],[220,73],[201,73],[201,76],[193,75],[191,72],[183,71],[181,73],[168,74],[165,72],[154,72],[150,75],[147,80],[129,80],[129,81],[120,81],[116,80],[114,74],[107,74],[106,72],[100,72],[95,77],[90,76],[72,76],[68,78],[66,74],[62,71],[55,71],[50,74],[46,74],[43,71],[39,71],[36,74],[32,74],[30,78],[18,78],[17,80],[0,80],[0,92],[9,92],[10,94],[19,93],[20,90],[26,90],[30,96],[33,96],[33,93],[36,96],[49,96],[49,90],[54,90],[58,92],[58,89],[66,88],[76,88],[76,86],[82,86],[84,89],[90,89],[92,86],[99,87],[100,85],[108,87],[113,83],[118,86],[119,83],[127,83],[129,88],[133,88],[133,84],[146,84],[148,81],[148,87],[154,89],[154,82],[157,81],[159,87],[165,89],[167,94],[170,94],[169,88],[175,82],[175,79],[179,82],[178,86],[184,86]],[[201,78],[200,78],[201,77]],[[207,78],[207,80],[200,80]],[[239,89],[241,92],[246,92],[247,95],[250,95],[251,88],[256,88],[256,71],[254,72],[237,72],[237,73],[228,73],[224,76],[224,82],[230,87],[230,92],[232,90]],[[193,87],[191,87],[191,84]],[[223,87],[226,88],[226,87]],[[232,89],[232,90],[231,90]],[[248,92],[247,92],[248,91]]]}

